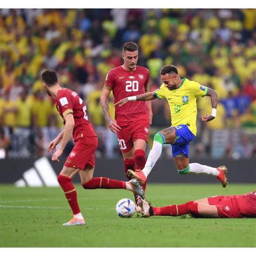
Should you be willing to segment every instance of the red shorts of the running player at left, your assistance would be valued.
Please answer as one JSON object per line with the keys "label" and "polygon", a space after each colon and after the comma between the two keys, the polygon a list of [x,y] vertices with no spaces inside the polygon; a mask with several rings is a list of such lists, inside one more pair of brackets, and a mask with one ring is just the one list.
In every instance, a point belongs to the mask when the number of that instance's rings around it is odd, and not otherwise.
{"label": "red shorts of the running player at left", "polygon": [[77,140],[65,161],[65,166],[85,170],[86,165],[95,166],[95,151],[98,147],[97,137],[84,137]]}

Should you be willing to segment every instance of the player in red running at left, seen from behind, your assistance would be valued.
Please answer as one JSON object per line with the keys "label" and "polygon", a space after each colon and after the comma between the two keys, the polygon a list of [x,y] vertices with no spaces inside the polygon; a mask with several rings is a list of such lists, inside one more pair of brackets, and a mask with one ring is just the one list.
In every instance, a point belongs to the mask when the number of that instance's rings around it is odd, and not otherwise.
{"label": "player in red running at left, seen from behind", "polygon": [[[123,188],[144,198],[144,191],[138,180],[129,182],[113,180],[105,177],[93,178],[95,169],[95,151],[98,147],[98,138],[89,122],[86,106],[78,94],[60,86],[57,73],[46,70],[41,76],[42,84],[49,96],[56,99],[57,110],[64,119],[64,130],[48,146],[48,151],[54,153],[53,161],[59,162],[66,144],[73,135],[75,146],[66,159],[62,171],[58,175],[59,185],[62,187],[65,197],[73,212],[73,218],[64,223],[65,226],[84,225],[85,220],[77,202],[76,188],[72,178],[79,173],[82,186],[86,189],[94,188]],[[55,152],[56,146],[59,149]]]}

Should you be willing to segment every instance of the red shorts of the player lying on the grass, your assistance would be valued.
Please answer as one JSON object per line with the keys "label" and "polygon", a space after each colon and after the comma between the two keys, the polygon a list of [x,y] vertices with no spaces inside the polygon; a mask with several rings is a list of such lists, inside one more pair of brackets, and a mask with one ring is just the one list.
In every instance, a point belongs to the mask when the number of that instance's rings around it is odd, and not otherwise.
{"label": "red shorts of the player lying on the grass", "polygon": [[219,218],[244,218],[233,196],[208,197],[208,203],[217,207]]}

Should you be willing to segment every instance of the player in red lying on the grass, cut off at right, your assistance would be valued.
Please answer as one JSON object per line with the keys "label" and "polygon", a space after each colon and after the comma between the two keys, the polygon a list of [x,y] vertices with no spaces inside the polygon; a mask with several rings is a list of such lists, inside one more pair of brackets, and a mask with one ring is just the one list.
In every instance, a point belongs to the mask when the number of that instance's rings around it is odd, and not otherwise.
{"label": "player in red lying on the grass, cut off at right", "polygon": [[256,191],[234,196],[214,196],[181,205],[152,207],[146,200],[140,205],[143,217],[190,214],[203,218],[256,218]]}

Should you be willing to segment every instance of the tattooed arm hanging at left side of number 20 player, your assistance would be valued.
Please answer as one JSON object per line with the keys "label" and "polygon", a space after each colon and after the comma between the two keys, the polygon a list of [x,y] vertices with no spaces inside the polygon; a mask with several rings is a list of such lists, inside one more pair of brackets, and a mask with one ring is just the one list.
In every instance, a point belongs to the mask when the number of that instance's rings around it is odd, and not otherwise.
{"label": "tattooed arm hanging at left side of number 20 player", "polygon": [[105,87],[102,90],[102,96],[100,96],[100,106],[102,107],[102,111],[104,113],[104,117],[106,119],[107,124],[109,125],[110,131],[113,133],[116,133],[121,129],[120,126],[117,125],[116,120],[113,120],[110,117],[110,112],[109,112],[109,101],[107,98],[110,95],[111,90],[106,89]]}

